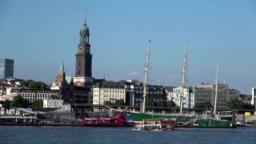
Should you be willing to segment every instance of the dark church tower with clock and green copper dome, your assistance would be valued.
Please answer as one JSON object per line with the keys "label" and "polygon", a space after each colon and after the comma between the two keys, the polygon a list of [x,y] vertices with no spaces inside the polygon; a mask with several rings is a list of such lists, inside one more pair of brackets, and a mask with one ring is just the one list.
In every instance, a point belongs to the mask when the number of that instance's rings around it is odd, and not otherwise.
{"label": "dark church tower with clock and green copper dome", "polygon": [[75,77],[73,77],[75,86],[85,87],[93,83],[94,77],[91,74],[91,45],[89,43],[89,28],[86,26],[86,11],[84,16],[84,25],[80,29],[80,43],[78,44],[78,53],[75,55]]}

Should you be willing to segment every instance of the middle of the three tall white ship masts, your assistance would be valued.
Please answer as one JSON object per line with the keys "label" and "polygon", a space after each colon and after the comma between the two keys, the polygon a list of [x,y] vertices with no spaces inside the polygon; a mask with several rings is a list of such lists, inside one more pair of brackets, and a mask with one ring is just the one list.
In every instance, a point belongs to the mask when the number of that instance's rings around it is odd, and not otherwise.
{"label": "middle of the three tall white ship masts", "polygon": [[185,71],[186,71],[186,63],[187,63],[187,51],[188,51],[188,41],[186,43],[186,50],[185,50],[185,55],[184,55],[184,63],[183,63],[183,76],[182,76],[182,83],[181,83],[181,112],[179,113],[182,115],[182,107],[183,107],[183,97],[184,97],[184,88],[185,88]]}

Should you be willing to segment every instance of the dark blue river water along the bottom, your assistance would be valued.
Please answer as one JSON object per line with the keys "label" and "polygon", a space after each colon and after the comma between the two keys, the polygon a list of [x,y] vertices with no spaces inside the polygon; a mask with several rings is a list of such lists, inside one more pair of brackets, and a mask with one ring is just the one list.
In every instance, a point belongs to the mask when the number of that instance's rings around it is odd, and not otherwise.
{"label": "dark blue river water along the bottom", "polygon": [[138,131],[127,127],[0,126],[0,143],[256,143],[256,127]]}

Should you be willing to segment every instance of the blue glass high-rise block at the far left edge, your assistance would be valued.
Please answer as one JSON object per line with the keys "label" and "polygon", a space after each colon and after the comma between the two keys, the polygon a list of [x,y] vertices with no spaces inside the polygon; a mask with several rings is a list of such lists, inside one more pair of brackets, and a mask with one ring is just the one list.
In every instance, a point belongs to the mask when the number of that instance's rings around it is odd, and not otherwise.
{"label": "blue glass high-rise block at the far left edge", "polygon": [[0,58],[0,79],[13,77],[14,60]]}

